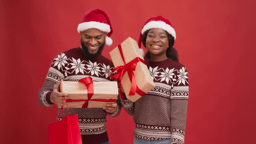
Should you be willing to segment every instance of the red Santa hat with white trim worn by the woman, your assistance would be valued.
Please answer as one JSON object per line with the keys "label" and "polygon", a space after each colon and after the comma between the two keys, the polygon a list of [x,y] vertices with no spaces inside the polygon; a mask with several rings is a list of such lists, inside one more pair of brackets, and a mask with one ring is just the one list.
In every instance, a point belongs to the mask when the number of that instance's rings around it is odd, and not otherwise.
{"label": "red Santa hat with white trim worn by the woman", "polygon": [[139,48],[140,48],[141,42],[142,42],[142,35],[144,34],[144,32],[146,32],[147,30],[150,30],[152,28],[161,28],[161,29],[165,30],[166,32],[168,32],[170,35],[172,35],[174,37],[174,40],[176,39],[176,32],[175,32],[174,28],[172,27],[171,22],[169,20],[163,18],[162,16],[156,16],[154,18],[148,19],[146,21],[146,23],[144,24],[144,26],[141,30],[139,41],[138,41]]}

